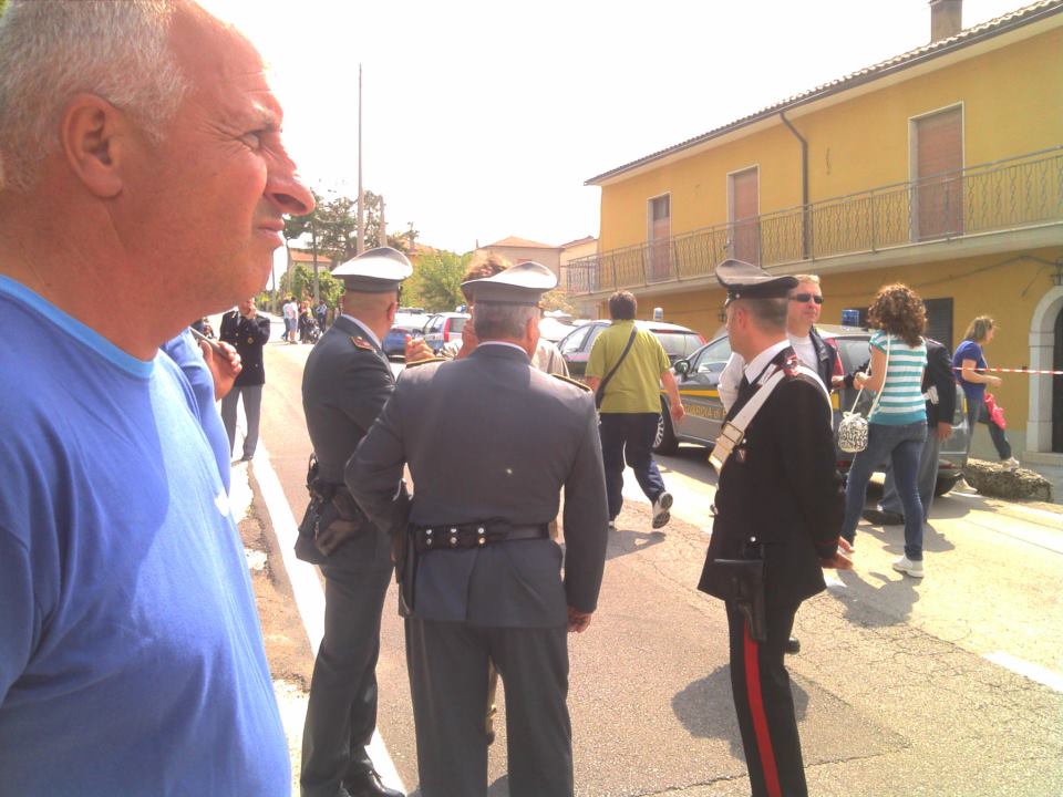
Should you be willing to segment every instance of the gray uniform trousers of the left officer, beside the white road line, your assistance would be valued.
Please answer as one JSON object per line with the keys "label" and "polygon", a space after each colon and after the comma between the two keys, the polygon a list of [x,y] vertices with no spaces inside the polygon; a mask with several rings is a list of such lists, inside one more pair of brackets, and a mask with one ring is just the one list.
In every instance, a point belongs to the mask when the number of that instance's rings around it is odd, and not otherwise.
{"label": "gray uniform trousers of the left officer, beside the white road line", "polygon": [[380,614],[392,573],[329,565],[321,572],[324,636],[302,731],[302,797],[336,797],[342,780],[372,767],[365,746],[376,727]]}

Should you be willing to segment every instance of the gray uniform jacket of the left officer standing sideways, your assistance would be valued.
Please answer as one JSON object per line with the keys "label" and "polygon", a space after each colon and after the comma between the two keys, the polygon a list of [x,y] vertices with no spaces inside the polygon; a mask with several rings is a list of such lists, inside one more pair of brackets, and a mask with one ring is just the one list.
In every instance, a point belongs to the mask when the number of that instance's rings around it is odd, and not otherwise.
{"label": "gray uniform jacket of the left officer standing sideways", "polygon": [[[343,466],[394,389],[388,358],[361,327],[338,318],[302,373],[302,408],[322,479],[343,484]],[[327,561],[344,569],[390,567],[390,538],[376,529],[361,534]]]}

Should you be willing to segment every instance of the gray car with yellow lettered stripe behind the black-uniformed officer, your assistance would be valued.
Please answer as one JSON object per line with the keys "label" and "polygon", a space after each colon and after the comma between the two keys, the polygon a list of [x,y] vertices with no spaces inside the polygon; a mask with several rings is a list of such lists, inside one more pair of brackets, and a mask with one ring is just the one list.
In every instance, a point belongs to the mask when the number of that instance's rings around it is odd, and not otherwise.
{"label": "gray car with yellow lettered stripe behind the black-uniformed officer", "polygon": [[[868,341],[870,332],[852,327],[817,327],[824,338],[833,338],[838,344],[842,364],[846,373],[867,362],[869,356]],[[658,424],[657,439],[653,451],[659,454],[670,454],[680,443],[695,443],[698,445],[715,445],[716,436],[723,426],[723,403],[720,401],[720,373],[731,356],[731,341],[727,335],[716,338],[702,346],[689,358],[678,361],[672,371],[679,385],[679,395],[683,402],[687,416],[679,423],[673,423],[669,415],[668,396],[661,393],[661,421]],[[839,407],[846,411],[853,407],[858,391],[845,389],[840,393],[830,394],[830,404],[834,407],[834,426],[837,428],[842,417]],[[864,393],[860,405],[857,407],[864,414],[870,408],[874,394]],[[967,442],[970,429],[967,425],[967,406],[963,391],[956,387],[956,412],[952,415],[952,434],[941,444],[941,454],[938,459],[938,482],[936,495],[945,495],[963,475],[963,465],[967,463]],[[848,470],[853,460],[852,454],[836,449],[838,468]],[[885,463],[883,463],[885,466]]]}

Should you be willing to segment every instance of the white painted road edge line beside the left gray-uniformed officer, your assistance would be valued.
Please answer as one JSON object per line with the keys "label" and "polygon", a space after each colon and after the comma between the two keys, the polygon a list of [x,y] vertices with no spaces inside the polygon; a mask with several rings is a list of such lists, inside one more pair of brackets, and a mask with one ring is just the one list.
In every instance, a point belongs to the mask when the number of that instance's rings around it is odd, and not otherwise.
{"label": "white painted road edge line beside the left gray-uniformed officer", "polygon": [[[269,463],[269,453],[261,439],[255,453],[254,466],[255,478],[266,504],[266,511],[269,513],[270,525],[277,536],[277,545],[280,546],[281,560],[291,581],[291,591],[296,596],[296,605],[310,640],[310,650],[317,652],[324,635],[324,591],[321,589],[321,582],[318,581],[314,567],[296,558],[295,545],[299,536],[299,526],[296,524],[295,515],[291,514],[291,507],[280,487],[280,479],[277,478],[277,473]],[[373,731],[373,739],[370,742],[368,753],[381,780],[386,786],[405,794],[406,787],[399,776],[399,770],[395,769],[395,763],[391,759],[379,729]]]}

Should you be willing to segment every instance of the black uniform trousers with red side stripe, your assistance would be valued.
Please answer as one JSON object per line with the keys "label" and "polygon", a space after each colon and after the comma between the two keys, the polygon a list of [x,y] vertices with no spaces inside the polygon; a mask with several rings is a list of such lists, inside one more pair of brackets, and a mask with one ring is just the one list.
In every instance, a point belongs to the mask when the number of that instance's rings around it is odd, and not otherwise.
{"label": "black uniform trousers with red side stripe", "polygon": [[731,691],[753,797],[805,797],[794,697],[783,663],[797,607],[768,604],[767,641],[760,643],[750,639],[742,613],[731,603],[726,607]]}

